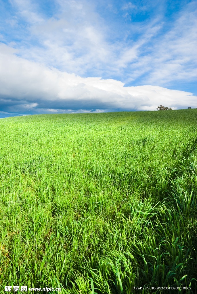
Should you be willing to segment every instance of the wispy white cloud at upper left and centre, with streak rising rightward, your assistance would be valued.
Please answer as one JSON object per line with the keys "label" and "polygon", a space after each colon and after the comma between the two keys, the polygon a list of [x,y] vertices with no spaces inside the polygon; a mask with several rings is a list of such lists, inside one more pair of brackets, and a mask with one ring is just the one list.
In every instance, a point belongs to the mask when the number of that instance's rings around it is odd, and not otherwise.
{"label": "wispy white cloud at upper left and centre, with streak rising rightward", "polygon": [[[24,37],[21,44],[15,46],[19,56],[82,76],[91,73],[127,77],[125,70],[139,59],[139,48],[158,30],[153,21],[143,28],[145,34],[138,42],[127,43],[127,38],[120,40],[125,32],[121,32],[121,36],[116,32],[118,38],[113,40],[114,29],[106,26],[93,3],[85,0],[56,2],[61,9],[53,17],[46,18],[31,0],[12,0],[19,12],[17,18],[20,15],[28,24],[27,39]],[[131,7],[131,3],[128,6]]]}

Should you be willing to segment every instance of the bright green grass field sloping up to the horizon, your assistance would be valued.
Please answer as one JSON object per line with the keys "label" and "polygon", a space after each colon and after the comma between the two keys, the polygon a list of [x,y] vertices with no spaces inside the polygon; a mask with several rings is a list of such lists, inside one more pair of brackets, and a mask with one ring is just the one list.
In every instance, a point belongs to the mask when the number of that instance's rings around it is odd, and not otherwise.
{"label": "bright green grass field sloping up to the horizon", "polygon": [[196,146],[197,109],[1,119],[1,293],[196,293]]}

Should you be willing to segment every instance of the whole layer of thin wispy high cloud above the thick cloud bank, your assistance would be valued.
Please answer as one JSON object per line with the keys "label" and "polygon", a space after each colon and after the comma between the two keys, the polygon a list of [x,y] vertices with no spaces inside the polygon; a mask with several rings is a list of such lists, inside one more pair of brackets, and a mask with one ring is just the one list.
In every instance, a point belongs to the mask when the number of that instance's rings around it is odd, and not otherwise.
{"label": "whole layer of thin wispy high cloud above the thick cloud bank", "polygon": [[[94,1],[56,0],[59,10],[52,17],[39,12],[36,1],[11,2],[18,9],[14,21],[21,17],[27,23],[26,38],[15,44],[17,54],[25,59],[80,76],[114,77],[125,83],[138,80],[172,86],[175,81],[196,79],[196,1],[185,5],[168,27],[158,15],[131,22],[127,31],[106,25]],[[136,6],[128,2],[122,9],[130,17],[127,10]]]}

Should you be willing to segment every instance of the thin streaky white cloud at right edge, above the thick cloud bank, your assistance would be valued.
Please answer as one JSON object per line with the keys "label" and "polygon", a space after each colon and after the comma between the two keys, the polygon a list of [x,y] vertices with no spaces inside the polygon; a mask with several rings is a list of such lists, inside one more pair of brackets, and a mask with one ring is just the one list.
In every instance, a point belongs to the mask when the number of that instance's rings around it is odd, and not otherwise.
{"label": "thin streaky white cloud at right edge, above the thick cloud bank", "polygon": [[[158,35],[151,44],[144,42],[138,50],[138,60],[130,65],[134,80],[145,75],[143,83],[172,85],[174,81],[192,82],[197,77],[197,9],[188,4],[179,12],[176,21],[165,34]],[[163,23],[163,29],[165,29]],[[162,28],[161,26],[161,28]],[[157,35],[157,32],[155,32]],[[155,34],[153,34],[154,36]],[[149,40],[147,40],[149,41]],[[145,52],[147,46],[149,53]]]}

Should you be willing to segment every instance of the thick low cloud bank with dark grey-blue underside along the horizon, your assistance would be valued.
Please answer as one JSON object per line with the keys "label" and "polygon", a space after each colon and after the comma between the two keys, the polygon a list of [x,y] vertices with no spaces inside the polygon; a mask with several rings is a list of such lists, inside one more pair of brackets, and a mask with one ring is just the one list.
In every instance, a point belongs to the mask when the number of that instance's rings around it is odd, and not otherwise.
{"label": "thick low cloud bank with dark grey-blue underside along the horizon", "polygon": [[196,107],[197,96],[159,86],[80,77],[16,56],[0,44],[0,111],[18,114],[156,110]]}

